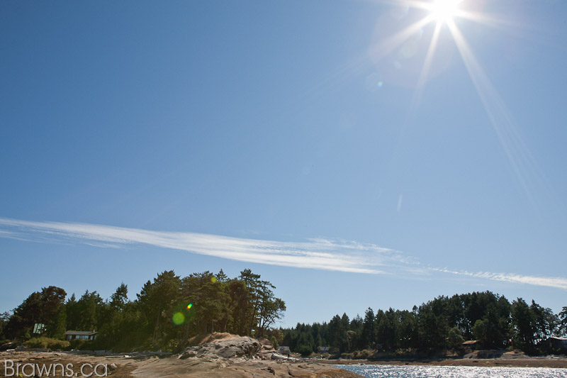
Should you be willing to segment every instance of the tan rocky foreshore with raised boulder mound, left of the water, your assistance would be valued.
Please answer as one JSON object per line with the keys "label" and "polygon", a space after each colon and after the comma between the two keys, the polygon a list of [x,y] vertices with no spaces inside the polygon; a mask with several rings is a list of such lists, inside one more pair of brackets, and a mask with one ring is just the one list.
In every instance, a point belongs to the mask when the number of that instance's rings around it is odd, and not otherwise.
{"label": "tan rocky foreshore with raised boulder mound, left of the water", "polygon": [[[6,361],[10,365],[6,365]],[[114,378],[155,377],[311,377],[355,378],[359,374],[338,369],[315,360],[286,358],[278,355],[267,341],[234,335],[218,335],[215,340],[185,348],[170,357],[155,355],[91,355],[76,352],[30,352],[9,350],[0,352],[0,374],[6,366],[72,365],[79,372],[82,365],[101,365]],[[90,370],[89,370],[90,372]],[[37,375],[38,377],[40,375]],[[50,375],[51,377],[52,375]],[[62,377],[62,375],[60,375]],[[79,372],[79,377],[81,374]],[[6,377],[6,375],[0,375]],[[57,376],[59,377],[59,376]]]}

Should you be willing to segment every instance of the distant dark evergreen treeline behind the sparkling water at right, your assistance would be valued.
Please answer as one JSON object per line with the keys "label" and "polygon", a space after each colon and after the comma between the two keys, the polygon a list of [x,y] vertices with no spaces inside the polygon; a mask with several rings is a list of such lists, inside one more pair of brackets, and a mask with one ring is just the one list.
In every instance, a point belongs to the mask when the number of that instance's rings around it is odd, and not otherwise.
{"label": "distant dark evergreen treeline behind the sparkling water at right", "polygon": [[364,319],[349,319],[346,313],[329,323],[298,323],[282,330],[281,345],[309,355],[320,346],[332,354],[364,351],[431,353],[459,349],[465,340],[478,340],[483,348],[513,345],[526,352],[538,352],[539,342],[551,335],[567,334],[567,307],[558,315],[523,299],[508,301],[490,291],[439,296],[414,306],[412,311],[368,308]]}

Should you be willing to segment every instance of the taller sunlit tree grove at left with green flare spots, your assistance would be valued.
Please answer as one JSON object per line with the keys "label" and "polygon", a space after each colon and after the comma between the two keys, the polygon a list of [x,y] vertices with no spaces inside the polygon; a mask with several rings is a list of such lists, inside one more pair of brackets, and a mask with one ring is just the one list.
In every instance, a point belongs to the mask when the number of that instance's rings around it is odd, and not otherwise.
{"label": "taller sunlit tree grove at left with green flare spots", "polygon": [[184,278],[165,271],[147,281],[134,301],[125,284],[106,300],[87,290],[65,301],[64,289],[46,287],[0,317],[0,340],[29,340],[36,323],[45,324],[42,336],[60,340],[66,330],[96,330],[96,340],[82,345],[96,350],[173,350],[193,335],[213,331],[262,337],[286,309],[273,289],[249,269],[233,279],[223,270]]}

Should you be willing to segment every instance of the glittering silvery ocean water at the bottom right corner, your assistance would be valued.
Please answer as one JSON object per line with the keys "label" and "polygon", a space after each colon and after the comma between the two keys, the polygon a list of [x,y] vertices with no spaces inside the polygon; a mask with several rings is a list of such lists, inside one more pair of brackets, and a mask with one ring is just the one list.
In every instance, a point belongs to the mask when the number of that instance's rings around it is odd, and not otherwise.
{"label": "glittering silvery ocean water at the bottom right corner", "polygon": [[466,367],[419,365],[334,365],[364,377],[388,378],[567,378],[567,369],[549,367]]}

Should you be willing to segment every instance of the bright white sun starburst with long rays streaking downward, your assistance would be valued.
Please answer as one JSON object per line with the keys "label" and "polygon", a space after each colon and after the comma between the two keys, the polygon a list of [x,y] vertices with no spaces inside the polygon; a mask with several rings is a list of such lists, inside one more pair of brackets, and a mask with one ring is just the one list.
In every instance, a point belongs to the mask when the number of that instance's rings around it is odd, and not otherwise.
{"label": "bright white sun starburst with long rays streaking downward", "polygon": [[[541,177],[541,171],[537,167],[537,163],[534,161],[531,152],[529,152],[527,145],[525,145],[522,138],[515,127],[515,122],[512,120],[512,115],[510,111],[505,106],[504,100],[501,98],[498,91],[495,89],[488,75],[481,67],[480,62],[476,59],[473,54],[473,50],[468,45],[463,33],[459,30],[457,26],[457,19],[465,19],[468,21],[474,21],[477,23],[485,23],[490,26],[517,26],[517,23],[511,22],[509,20],[503,20],[490,16],[488,14],[479,13],[473,9],[478,8],[478,4],[483,1],[466,1],[466,0],[399,0],[400,2],[405,2],[410,4],[416,9],[422,9],[426,11],[427,14],[420,20],[415,21],[406,26],[403,30],[398,33],[385,38],[381,43],[376,43],[372,45],[369,52],[371,54],[372,60],[377,63],[388,55],[393,55],[393,53],[398,52],[397,58],[409,59],[415,55],[415,46],[412,43],[417,43],[417,39],[411,39],[416,32],[419,32],[425,26],[430,23],[435,24],[435,28],[432,33],[432,38],[430,40],[430,46],[427,49],[427,55],[425,56],[425,61],[423,63],[422,71],[420,77],[417,81],[417,86],[415,88],[415,93],[412,99],[411,110],[415,111],[417,106],[420,104],[420,99],[422,96],[425,83],[430,74],[430,70],[434,65],[434,55],[437,50],[437,45],[439,44],[440,34],[442,33],[443,26],[447,26],[451,34],[452,39],[456,45],[459,54],[461,55],[461,60],[464,62],[466,70],[468,71],[468,76],[473,82],[478,96],[483,104],[486,114],[492,123],[495,132],[500,139],[500,143],[503,147],[505,154],[510,161],[512,169],[524,189],[527,198],[532,202],[534,209],[537,211],[536,200],[532,194],[532,190],[529,188],[529,182],[527,182],[527,175],[531,174],[539,178]],[[472,4],[471,4],[472,3]],[[398,62],[398,60],[394,60]],[[398,68],[398,67],[397,67]],[[401,68],[401,65],[400,67]],[[541,181],[541,179],[539,179]]]}

